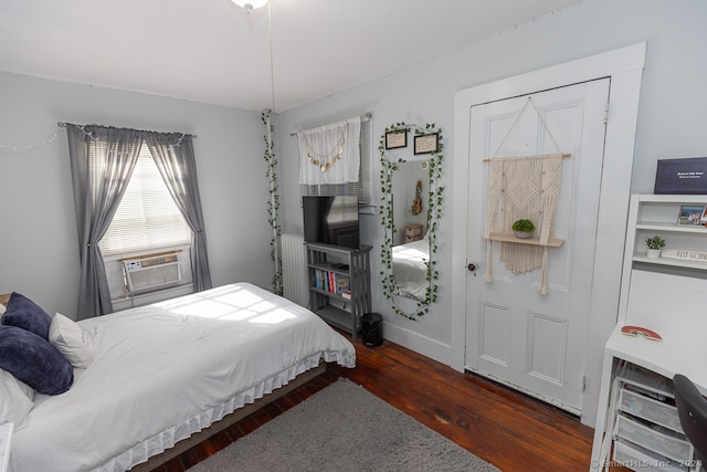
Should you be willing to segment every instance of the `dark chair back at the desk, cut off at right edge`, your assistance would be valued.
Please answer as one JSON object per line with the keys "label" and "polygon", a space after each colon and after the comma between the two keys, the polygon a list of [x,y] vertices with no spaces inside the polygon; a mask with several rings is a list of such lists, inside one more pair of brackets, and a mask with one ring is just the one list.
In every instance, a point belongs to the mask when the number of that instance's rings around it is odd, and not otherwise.
{"label": "dark chair back at the desk, cut off at right edge", "polygon": [[680,426],[695,448],[696,459],[703,461],[704,469],[707,466],[707,399],[697,390],[695,384],[682,374],[673,377],[673,387]]}

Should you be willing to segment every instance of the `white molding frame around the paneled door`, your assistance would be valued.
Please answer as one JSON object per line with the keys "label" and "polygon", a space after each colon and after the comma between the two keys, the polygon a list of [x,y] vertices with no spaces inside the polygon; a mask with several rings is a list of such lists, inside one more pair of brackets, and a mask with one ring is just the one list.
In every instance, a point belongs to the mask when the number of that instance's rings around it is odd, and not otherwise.
{"label": "white molding frame around the paneled door", "polygon": [[[464,371],[466,333],[466,243],[469,198],[471,107],[489,102],[609,77],[609,111],[592,279],[582,423],[594,426],[603,346],[616,324],[625,221],[646,43],[528,72],[460,91],[454,96],[454,185],[452,225],[451,366]],[[599,243],[601,242],[601,243]]]}

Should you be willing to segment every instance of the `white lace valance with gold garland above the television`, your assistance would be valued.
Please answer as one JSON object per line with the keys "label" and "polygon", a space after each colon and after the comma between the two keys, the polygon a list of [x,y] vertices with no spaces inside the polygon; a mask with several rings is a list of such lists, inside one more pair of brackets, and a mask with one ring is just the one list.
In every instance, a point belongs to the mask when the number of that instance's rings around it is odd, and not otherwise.
{"label": "white lace valance with gold garland above the television", "polygon": [[357,182],[361,117],[297,133],[299,139],[299,183]]}

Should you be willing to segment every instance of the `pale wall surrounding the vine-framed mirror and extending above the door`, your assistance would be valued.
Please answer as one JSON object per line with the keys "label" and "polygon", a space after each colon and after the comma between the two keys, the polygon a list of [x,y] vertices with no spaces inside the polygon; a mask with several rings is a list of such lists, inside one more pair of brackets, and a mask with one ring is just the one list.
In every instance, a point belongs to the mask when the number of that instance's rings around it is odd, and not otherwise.
{"label": "pale wall surrounding the vine-framed mirror and extending above the door", "polygon": [[[373,143],[397,122],[442,127],[446,147],[442,185],[446,210],[440,231],[440,298],[419,322],[395,316],[380,291],[379,264],[372,265],[373,311],[384,317],[386,337],[450,364],[452,338],[451,237],[453,195],[454,93],[474,85],[535,71],[618,48],[647,42],[632,178],[633,192],[652,192],[656,160],[707,155],[707,2],[700,0],[592,0],[536,19],[435,60],[278,116],[283,175],[298,168],[296,140],[288,134],[371,112]],[[391,48],[404,48],[391,43]],[[383,52],[384,53],[384,52]],[[380,165],[376,161],[373,176]],[[380,192],[379,186],[373,186]],[[298,188],[282,185],[285,231],[300,231]],[[380,200],[377,195],[376,201]],[[621,223],[621,222],[618,222]],[[382,241],[380,217],[365,217],[362,241]],[[598,268],[601,271],[601,268]],[[601,353],[594,353],[601,356]]]}

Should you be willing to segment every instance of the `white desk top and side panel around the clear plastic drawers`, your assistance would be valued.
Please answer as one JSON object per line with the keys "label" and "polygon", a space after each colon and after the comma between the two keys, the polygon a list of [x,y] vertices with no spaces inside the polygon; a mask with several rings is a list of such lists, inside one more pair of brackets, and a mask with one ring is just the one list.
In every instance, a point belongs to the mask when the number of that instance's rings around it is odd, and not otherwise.
{"label": "white desk top and side panel around the clear plastic drawers", "polygon": [[613,411],[609,411],[609,403],[615,374],[613,371],[615,359],[627,360],[669,379],[675,374],[683,374],[695,382],[703,395],[707,395],[705,360],[707,359],[707,339],[677,332],[684,328],[677,321],[675,331],[658,332],[663,340],[651,340],[641,335],[626,336],[621,333],[621,327],[622,325],[616,325],[604,347],[604,366],[590,470],[601,470],[609,461],[612,432],[606,430],[611,429],[613,423],[609,417],[613,415]]}

